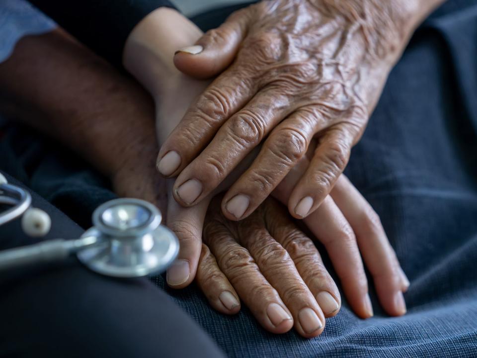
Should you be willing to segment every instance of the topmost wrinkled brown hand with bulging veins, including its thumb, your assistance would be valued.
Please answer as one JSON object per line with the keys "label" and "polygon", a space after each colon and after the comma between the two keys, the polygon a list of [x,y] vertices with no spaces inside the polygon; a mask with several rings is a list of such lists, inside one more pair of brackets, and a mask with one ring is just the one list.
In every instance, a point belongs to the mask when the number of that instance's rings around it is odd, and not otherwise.
{"label": "topmost wrinkled brown hand with bulging veins, including its thumb", "polygon": [[176,67],[197,78],[224,71],[190,106],[159,152],[178,175],[174,197],[200,202],[264,140],[223,198],[224,214],[251,212],[319,145],[294,188],[296,218],[315,211],[347,164],[412,30],[442,0],[267,0],[232,14],[182,48]]}

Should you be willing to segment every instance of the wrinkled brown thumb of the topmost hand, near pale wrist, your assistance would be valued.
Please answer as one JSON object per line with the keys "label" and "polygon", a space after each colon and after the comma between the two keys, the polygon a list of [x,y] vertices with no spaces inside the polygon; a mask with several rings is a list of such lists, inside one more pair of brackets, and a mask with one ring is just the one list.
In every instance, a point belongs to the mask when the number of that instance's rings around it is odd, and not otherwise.
{"label": "wrinkled brown thumb of the topmost hand, near pale wrist", "polygon": [[207,31],[195,45],[179,49],[174,54],[175,67],[197,79],[217,76],[234,61],[248,22],[246,8],[234,12],[218,28]]}

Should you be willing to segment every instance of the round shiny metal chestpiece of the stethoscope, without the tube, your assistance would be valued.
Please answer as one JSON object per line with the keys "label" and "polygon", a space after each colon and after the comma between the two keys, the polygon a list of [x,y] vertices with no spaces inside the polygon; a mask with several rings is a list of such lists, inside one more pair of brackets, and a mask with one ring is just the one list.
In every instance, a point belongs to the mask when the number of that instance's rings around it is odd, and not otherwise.
{"label": "round shiny metal chestpiece of the stethoscope, without the tube", "polygon": [[81,236],[95,238],[96,244],[77,256],[89,269],[109,276],[160,273],[179,252],[177,237],[160,225],[161,218],[156,206],[144,200],[108,201],[94,210],[94,226]]}

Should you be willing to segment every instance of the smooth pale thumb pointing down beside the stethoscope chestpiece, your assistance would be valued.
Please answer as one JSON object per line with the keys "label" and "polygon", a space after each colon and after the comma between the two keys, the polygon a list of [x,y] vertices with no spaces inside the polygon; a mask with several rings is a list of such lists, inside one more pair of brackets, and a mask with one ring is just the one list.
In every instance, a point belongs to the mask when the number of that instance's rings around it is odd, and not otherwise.
{"label": "smooth pale thumb pointing down beside the stethoscope chestpiece", "polygon": [[[170,186],[173,181],[171,180]],[[182,207],[174,198],[168,199],[167,227],[179,239],[179,254],[167,269],[167,284],[172,288],[186,287],[194,280],[202,249],[202,228],[210,199],[209,195],[192,207]]]}

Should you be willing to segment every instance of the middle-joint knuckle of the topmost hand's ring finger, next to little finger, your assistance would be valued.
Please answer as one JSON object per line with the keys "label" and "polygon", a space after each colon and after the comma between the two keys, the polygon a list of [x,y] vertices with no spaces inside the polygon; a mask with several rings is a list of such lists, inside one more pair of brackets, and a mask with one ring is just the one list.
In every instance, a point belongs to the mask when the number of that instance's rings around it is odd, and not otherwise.
{"label": "middle-joint knuckle of the topmost hand's ring finger, next to little finger", "polygon": [[286,164],[298,162],[308,148],[306,136],[293,128],[278,130],[272,140],[269,150],[282,163]]}

